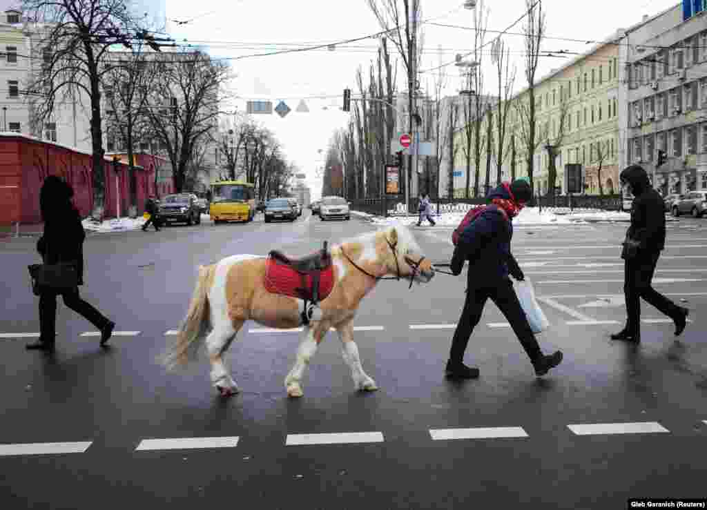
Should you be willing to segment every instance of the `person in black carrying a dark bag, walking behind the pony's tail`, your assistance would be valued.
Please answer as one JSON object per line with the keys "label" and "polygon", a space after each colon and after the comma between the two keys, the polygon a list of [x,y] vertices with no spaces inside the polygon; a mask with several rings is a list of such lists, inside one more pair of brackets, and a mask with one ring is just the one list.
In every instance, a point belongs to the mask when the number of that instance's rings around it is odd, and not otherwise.
{"label": "person in black carrying a dark bag, walking behind the pony's tail", "polygon": [[[45,263],[76,263],[78,285],[83,285],[83,240],[86,233],[81,216],[71,203],[74,190],[59,177],[49,176],[40,191],[40,210],[45,230],[37,241],[37,251]],[[30,350],[54,350],[57,323],[57,292],[40,289],[40,338],[27,345]],[[62,292],[67,307],[85,317],[101,333],[100,345],[110,338],[115,323],[107,319],[78,295],[78,287]]]}

